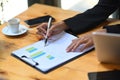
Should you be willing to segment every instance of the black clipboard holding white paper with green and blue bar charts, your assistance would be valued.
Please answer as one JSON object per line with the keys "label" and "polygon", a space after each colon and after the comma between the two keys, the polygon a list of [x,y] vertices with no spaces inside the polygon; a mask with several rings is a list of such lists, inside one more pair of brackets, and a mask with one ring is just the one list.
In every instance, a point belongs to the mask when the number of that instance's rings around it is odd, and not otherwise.
{"label": "black clipboard holding white paper with green and blue bar charts", "polygon": [[76,49],[75,52],[67,53],[66,48],[75,38],[77,37],[63,32],[59,39],[49,43],[46,47],[44,47],[44,40],[41,40],[13,51],[12,55],[37,70],[47,73],[93,49],[90,47],[83,52],[78,52]]}

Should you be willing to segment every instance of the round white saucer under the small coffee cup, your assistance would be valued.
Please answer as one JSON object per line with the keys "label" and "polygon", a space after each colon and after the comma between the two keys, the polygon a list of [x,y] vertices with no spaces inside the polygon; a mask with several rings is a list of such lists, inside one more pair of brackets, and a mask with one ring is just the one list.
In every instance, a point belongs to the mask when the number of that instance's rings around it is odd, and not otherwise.
{"label": "round white saucer under the small coffee cup", "polygon": [[20,24],[20,25],[19,25],[19,32],[18,32],[18,33],[13,33],[13,32],[11,32],[11,31],[9,30],[8,26],[6,26],[6,27],[4,27],[4,28],[2,29],[2,33],[3,33],[4,35],[7,35],[7,36],[18,36],[18,35],[22,35],[22,34],[26,33],[27,30],[28,30],[28,28],[27,28],[26,26]]}

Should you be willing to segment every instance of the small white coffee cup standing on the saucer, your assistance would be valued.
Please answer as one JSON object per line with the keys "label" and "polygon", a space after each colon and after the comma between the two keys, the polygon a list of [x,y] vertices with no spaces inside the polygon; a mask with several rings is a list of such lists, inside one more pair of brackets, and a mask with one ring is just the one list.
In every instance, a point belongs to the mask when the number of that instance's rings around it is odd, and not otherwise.
{"label": "small white coffee cup standing on the saucer", "polygon": [[12,18],[12,19],[8,20],[8,29],[12,33],[18,33],[19,32],[19,24],[20,24],[19,18]]}

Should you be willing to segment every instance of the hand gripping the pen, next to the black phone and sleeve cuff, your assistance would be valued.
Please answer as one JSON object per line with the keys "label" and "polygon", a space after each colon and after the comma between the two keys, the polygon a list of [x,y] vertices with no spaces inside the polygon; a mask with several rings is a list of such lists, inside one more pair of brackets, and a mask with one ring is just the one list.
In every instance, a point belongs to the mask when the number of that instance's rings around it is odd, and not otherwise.
{"label": "hand gripping the pen, next to the black phone and sleeve cuff", "polygon": [[[42,23],[37,27],[37,34],[45,37],[48,23]],[[68,29],[68,26],[64,22],[58,22],[51,26],[48,37],[59,34],[62,31]]]}

